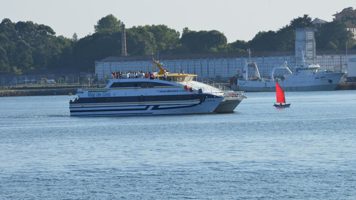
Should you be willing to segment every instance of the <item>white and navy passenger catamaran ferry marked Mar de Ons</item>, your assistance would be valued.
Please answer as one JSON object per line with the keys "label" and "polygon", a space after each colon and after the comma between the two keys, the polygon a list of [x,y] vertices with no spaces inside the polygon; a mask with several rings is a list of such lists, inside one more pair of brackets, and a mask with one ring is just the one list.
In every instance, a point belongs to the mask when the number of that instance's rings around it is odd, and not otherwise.
{"label": "white and navy passenger catamaran ferry marked Mar de Ons", "polygon": [[[161,115],[233,112],[245,98],[214,81],[194,74],[159,72],[152,78],[110,79],[104,88],[78,89],[79,98],[69,102],[71,116]],[[164,75],[166,72],[166,75]],[[132,77],[137,77],[135,76]]]}

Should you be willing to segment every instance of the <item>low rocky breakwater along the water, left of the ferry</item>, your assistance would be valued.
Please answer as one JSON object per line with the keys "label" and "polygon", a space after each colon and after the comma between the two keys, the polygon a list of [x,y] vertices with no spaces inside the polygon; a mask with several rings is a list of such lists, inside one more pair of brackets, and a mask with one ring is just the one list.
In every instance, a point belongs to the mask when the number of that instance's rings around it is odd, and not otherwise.
{"label": "low rocky breakwater along the water, left of the ferry", "polygon": [[77,88],[37,89],[37,90],[0,90],[0,97],[68,95],[69,93],[72,93],[72,94],[77,93]]}

